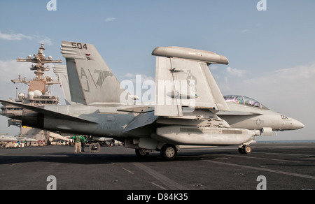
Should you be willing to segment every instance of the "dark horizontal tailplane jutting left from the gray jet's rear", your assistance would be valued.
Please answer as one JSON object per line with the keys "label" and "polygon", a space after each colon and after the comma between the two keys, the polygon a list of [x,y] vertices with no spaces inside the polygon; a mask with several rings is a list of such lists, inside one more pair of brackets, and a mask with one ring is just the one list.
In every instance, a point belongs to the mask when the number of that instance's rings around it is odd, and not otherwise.
{"label": "dark horizontal tailplane jutting left from the gray jet's rear", "polygon": [[0,103],[6,103],[6,104],[10,104],[10,105],[15,105],[15,106],[18,106],[20,108],[25,108],[27,110],[31,110],[31,111],[37,112],[37,113],[42,114],[44,116],[55,117],[57,119],[66,119],[66,120],[70,120],[70,121],[73,121],[73,122],[85,122],[85,123],[90,123],[90,124],[96,124],[96,122],[92,122],[92,121],[87,120],[87,119],[83,119],[83,118],[80,118],[80,117],[73,117],[73,116],[70,116],[70,115],[65,115],[65,114],[62,114],[62,113],[59,113],[59,112],[46,110],[44,108],[39,108],[39,107],[36,107],[36,106],[25,105],[25,104],[22,104],[22,103],[15,103],[15,102],[10,102],[10,101],[2,101],[2,100],[0,100]]}

